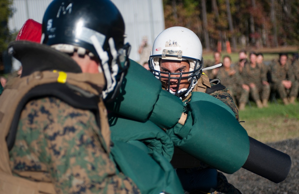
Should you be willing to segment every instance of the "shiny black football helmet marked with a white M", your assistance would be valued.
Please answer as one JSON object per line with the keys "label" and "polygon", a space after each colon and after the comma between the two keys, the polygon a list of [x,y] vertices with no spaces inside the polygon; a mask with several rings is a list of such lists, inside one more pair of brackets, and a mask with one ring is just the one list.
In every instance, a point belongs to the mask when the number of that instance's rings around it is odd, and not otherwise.
{"label": "shiny black football helmet marked with a white M", "polygon": [[129,66],[125,25],[109,0],[54,0],[42,21],[42,43],[66,53],[97,57],[106,77],[103,98],[114,97]]}

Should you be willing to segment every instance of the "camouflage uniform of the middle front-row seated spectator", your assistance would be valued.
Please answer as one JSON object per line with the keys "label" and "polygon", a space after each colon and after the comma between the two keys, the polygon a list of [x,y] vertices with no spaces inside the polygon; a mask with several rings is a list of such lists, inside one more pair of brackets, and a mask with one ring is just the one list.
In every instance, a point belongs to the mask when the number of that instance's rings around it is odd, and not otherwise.
{"label": "camouflage uniform of the middle front-row seated spectator", "polygon": [[250,88],[251,97],[255,102],[269,100],[270,85],[262,84],[263,81],[267,81],[267,68],[263,63],[256,64],[255,68],[252,68],[250,64],[246,65],[242,71],[242,76],[245,84],[255,84],[255,88]]}

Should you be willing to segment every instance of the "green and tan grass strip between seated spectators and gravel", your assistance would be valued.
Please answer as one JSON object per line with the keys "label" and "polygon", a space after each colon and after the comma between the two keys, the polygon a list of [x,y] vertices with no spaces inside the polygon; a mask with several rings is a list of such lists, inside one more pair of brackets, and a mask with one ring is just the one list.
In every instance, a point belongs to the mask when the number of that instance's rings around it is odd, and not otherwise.
{"label": "green and tan grass strip between seated spectators and gravel", "polygon": [[299,103],[283,105],[269,103],[269,107],[258,109],[254,102],[239,111],[241,125],[248,135],[261,142],[275,142],[299,138]]}

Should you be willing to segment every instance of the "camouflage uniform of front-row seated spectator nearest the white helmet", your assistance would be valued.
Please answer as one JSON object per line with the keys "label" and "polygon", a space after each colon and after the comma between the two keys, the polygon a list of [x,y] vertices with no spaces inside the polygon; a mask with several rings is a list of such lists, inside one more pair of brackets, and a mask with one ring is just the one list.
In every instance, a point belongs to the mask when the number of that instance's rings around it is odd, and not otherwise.
{"label": "camouflage uniform of front-row seated spectator nearest the white helmet", "polygon": [[[231,68],[231,70],[233,69]],[[221,83],[231,91],[231,96],[234,99],[235,104],[237,104],[237,101],[239,104],[247,103],[249,91],[242,88],[244,81],[238,71],[236,71],[234,75],[229,75],[229,71],[225,71],[224,68],[220,68],[218,71],[218,77],[221,80]],[[235,96],[237,97],[237,100],[235,99]]]}

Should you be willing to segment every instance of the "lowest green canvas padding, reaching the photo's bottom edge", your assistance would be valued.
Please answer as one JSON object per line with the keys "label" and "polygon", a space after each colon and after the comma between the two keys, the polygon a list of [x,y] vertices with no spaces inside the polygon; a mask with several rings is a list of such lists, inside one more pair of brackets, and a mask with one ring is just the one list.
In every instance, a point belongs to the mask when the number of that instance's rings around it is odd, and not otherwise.
{"label": "lowest green canvas padding, reaching the photo's bottom edge", "polygon": [[129,143],[113,141],[113,160],[121,172],[130,177],[141,193],[184,193],[172,165],[158,153],[151,155]]}

